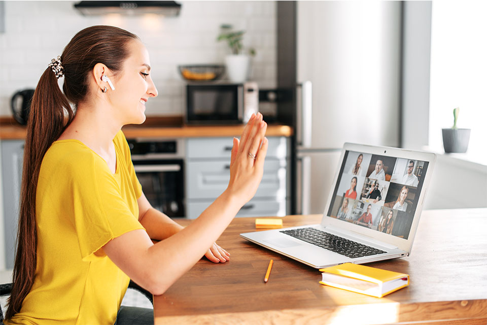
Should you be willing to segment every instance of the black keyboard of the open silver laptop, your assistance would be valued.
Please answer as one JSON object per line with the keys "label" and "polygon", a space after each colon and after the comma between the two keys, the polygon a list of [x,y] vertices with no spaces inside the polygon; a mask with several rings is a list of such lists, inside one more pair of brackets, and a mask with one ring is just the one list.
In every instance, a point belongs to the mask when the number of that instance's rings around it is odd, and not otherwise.
{"label": "black keyboard of the open silver laptop", "polygon": [[281,233],[350,258],[386,253],[384,250],[360,244],[314,228],[283,230]]}

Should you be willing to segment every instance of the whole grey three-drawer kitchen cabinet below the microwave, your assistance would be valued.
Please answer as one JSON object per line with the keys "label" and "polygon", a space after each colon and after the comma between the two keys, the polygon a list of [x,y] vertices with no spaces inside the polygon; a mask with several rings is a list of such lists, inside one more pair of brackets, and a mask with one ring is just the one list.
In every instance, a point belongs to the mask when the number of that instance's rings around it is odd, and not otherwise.
{"label": "whole grey three-drawer kitchen cabinet below the microwave", "polygon": [[[238,217],[285,216],[290,211],[290,141],[286,137],[268,140],[262,181]],[[186,215],[196,218],[228,185],[232,138],[188,139],[186,150]]]}

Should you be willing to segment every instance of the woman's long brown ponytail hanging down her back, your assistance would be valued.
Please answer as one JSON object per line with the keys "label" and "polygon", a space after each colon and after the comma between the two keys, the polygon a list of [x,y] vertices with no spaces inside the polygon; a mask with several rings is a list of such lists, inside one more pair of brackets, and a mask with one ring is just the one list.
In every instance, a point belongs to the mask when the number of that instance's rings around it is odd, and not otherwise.
{"label": "woman's long brown ponytail hanging down her back", "polygon": [[27,121],[20,189],[18,246],[12,294],[5,314],[7,319],[20,311],[22,302],[34,282],[37,266],[36,192],[42,159],[73,117],[74,112],[61,92],[55,74],[51,68],[47,68],[34,92]]}

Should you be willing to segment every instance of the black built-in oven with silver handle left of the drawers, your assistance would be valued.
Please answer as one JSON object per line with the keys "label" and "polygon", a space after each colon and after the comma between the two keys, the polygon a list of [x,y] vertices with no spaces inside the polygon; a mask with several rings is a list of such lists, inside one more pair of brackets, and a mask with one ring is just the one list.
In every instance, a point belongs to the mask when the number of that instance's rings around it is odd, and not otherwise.
{"label": "black built-in oven with silver handle left of the drawers", "polygon": [[152,207],[184,217],[184,140],[129,139],[132,163]]}

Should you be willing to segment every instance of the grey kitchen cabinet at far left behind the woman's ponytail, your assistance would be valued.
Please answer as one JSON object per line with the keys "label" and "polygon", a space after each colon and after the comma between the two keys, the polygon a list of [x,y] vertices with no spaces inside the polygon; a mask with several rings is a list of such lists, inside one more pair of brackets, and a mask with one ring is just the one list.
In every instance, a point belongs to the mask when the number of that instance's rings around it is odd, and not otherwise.
{"label": "grey kitchen cabinet at far left behind the woman's ponytail", "polygon": [[5,267],[13,269],[22,180],[23,140],[0,141],[2,151],[2,193],[4,213]]}

